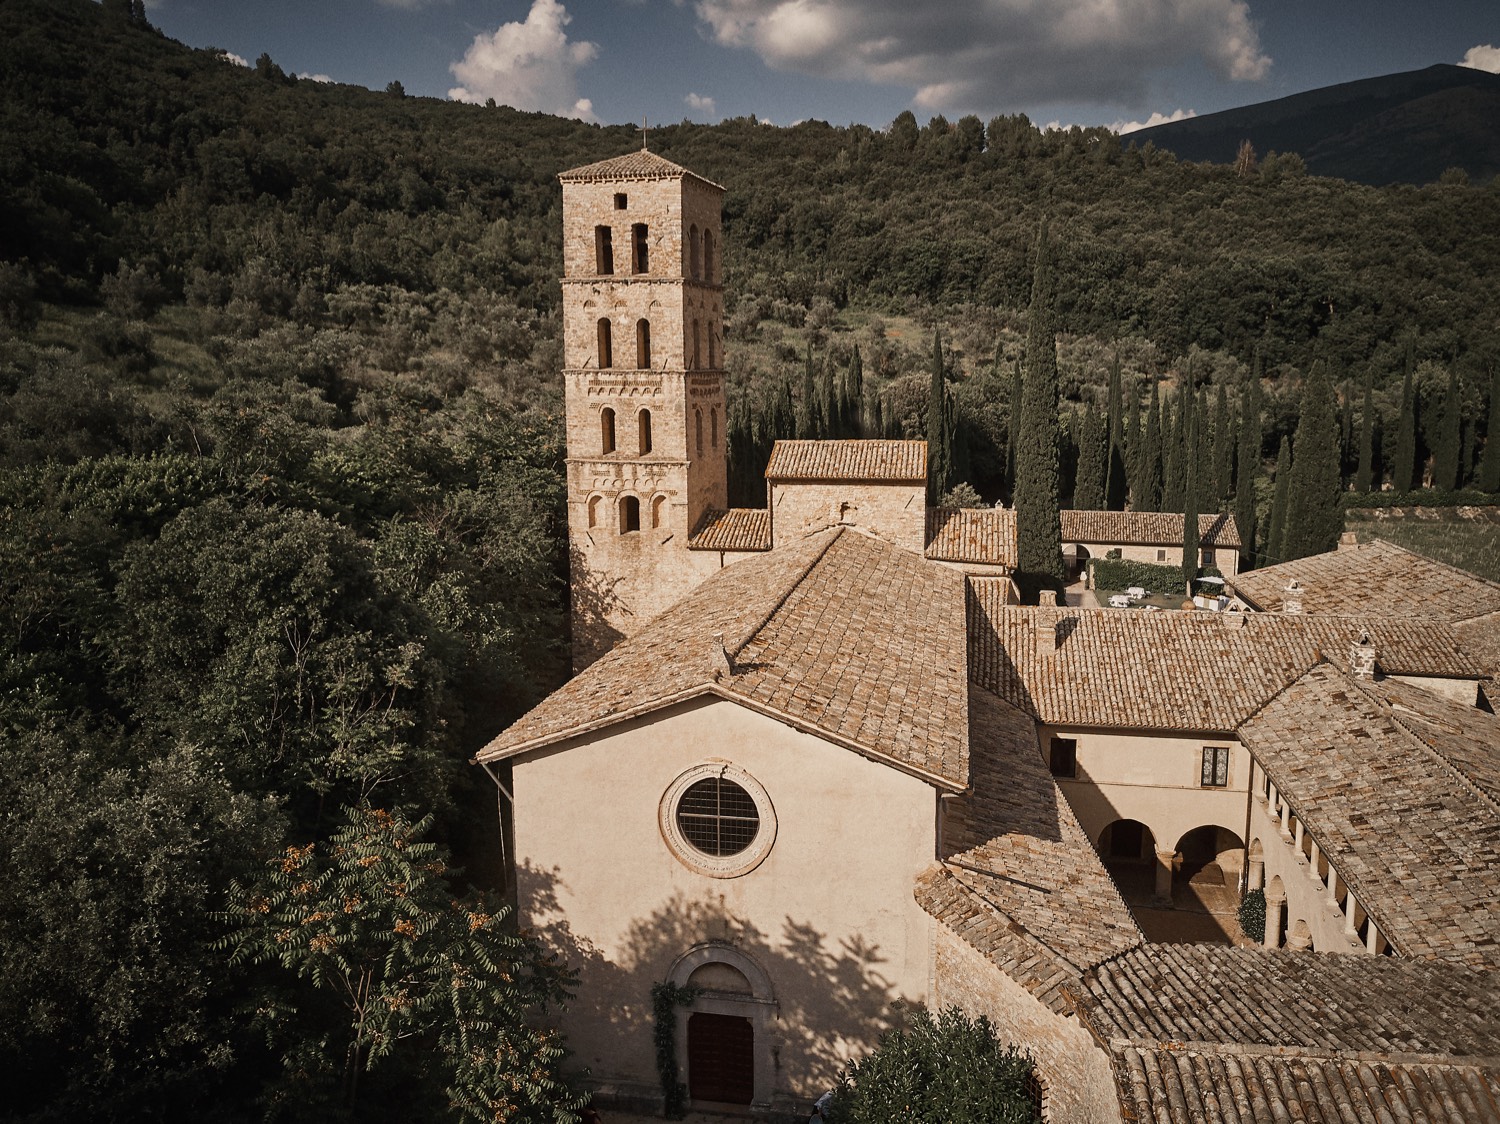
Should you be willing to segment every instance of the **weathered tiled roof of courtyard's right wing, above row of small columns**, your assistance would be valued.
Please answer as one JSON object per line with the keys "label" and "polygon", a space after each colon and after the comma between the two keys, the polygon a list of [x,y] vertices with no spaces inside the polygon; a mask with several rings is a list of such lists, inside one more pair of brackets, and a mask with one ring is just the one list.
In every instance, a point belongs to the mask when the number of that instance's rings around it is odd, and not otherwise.
{"label": "weathered tiled roof of courtyard's right wing, above row of small columns", "polygon": [[1239,738],[1396,951],[1500,968],[1500,722],[1420,693],[1323,663]]}

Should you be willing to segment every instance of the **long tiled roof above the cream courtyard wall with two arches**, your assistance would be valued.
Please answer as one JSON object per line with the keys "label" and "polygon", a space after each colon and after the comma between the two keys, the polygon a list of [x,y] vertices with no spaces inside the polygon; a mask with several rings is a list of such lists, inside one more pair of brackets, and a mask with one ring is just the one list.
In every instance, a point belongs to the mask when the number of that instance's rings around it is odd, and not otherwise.
{"label": "long tiled roof above the cream courtyard wall with two arches", "polygon": [[969,579],[969,674],[1056,725],[1233,731],[1364,630],[1386,674],[1484,674],[1443,621],[1023,608],[1006,582]]}

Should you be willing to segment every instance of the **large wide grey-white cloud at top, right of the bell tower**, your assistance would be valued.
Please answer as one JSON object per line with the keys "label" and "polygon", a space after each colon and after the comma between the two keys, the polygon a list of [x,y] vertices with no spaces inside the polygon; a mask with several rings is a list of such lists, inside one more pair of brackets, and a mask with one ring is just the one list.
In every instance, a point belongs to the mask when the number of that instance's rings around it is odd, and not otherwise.
{"label": "large wide grey-white cloud at top, right of the bell tower", "polygon": [[694,0],[712,39],[768,66],[915,90],[927,110],[1132,102],[1155,71],[1270,66],[1245,0]]}

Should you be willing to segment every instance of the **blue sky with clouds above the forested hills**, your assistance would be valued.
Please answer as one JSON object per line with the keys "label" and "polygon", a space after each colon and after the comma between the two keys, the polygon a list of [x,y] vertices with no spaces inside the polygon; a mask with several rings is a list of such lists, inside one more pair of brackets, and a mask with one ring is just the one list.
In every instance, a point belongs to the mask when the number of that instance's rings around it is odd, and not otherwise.
{"label": "blue sky with clouds above the forested hills", "polygon": [[1497,0],[147,0],[190,47],[606,125],[1024,113],[1122,132],[1461,63]]}

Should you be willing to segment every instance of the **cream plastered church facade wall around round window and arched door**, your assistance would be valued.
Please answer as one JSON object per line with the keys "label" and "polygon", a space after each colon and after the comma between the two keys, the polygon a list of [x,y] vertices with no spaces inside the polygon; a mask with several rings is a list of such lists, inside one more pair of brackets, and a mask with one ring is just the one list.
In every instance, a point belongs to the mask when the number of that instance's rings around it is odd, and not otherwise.
{"label": "cream plastered church facade wall around round window and arched door", "polygon": [[[658,827],[668,786],[714,759],[776,810],[774,846],[736,878],[690,869]],[[580,971],[561,1023],[594,1083],[657,1091],[651,984],[714,942],[771,980],[770,1083],[788,1110],[876,1043],[892,999],[926,1001],[932,920],[912,884],[934,855],[927,783],[717,699],[524,758],[513,777],[520,921]]]}

